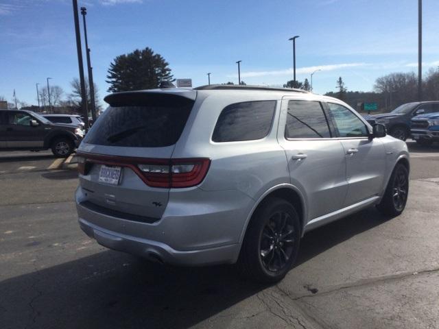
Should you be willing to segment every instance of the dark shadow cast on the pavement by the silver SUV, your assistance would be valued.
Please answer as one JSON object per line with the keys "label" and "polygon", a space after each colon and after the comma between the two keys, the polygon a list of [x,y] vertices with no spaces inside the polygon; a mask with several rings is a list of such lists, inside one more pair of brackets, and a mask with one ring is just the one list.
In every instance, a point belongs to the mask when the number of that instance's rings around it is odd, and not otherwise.
{"label": "dark shadow cast on the pavement by the silver SUV", "polygon": [[[365,210],[309,232],[299,263],[379,225],[379,216]],[[41,268],[42,257],[38,270],[0,282],[3,328],[187,328],[268,287],[241,280],[233,266],[167,267],[106,250]]]}

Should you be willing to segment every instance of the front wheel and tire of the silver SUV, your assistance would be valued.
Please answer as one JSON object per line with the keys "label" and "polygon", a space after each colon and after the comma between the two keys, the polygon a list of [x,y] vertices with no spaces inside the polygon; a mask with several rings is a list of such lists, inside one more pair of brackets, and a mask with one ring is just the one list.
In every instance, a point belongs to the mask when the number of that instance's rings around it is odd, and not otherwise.
{"label": "front wheel and tire of the silver SUV", "polygon": [[387,216],[398,216],[404,211],[409,193],[409,172],[403,164],[396,164],[377,209]]}

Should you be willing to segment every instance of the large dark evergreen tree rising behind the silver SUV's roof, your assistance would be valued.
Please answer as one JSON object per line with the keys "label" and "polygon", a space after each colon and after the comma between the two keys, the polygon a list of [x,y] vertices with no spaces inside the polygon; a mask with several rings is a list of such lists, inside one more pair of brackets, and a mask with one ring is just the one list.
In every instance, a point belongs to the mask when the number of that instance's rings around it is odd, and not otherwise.
{"label": "large dark evergreen tree rising behind the silver SUV's roof", "polygon": [[158,88],[163,81],[174,81],[168,65],[160,54],[149,47],[117,56],[108,69],[108,91]]}

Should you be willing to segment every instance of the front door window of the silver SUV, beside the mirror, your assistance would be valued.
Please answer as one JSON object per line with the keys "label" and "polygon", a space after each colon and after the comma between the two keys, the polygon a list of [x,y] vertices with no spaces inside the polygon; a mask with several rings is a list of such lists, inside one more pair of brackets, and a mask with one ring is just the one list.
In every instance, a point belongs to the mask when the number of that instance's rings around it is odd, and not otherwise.
{"label": "front door window of the silver SUV, beside the mirror", "polygon": [[339,137],[368,136],[366,125],[351,110],[342,105],[328,103],[331,117]]}

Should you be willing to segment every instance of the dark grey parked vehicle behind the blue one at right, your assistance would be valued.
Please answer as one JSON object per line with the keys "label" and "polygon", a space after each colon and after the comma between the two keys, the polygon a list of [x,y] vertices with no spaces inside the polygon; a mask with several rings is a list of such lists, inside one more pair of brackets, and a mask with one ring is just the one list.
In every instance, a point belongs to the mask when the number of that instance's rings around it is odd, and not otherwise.
{"label": "dark grey parked vehicle behind the blue one at right", "polygon": [[366,118],[368,123],[381,123],[385,125],[391,136],[405,141],[410,137],[410,123],[418,114],[439,112],[439,101],[415,101],[405,103],[395,108],[390,113],[370,115]]}

